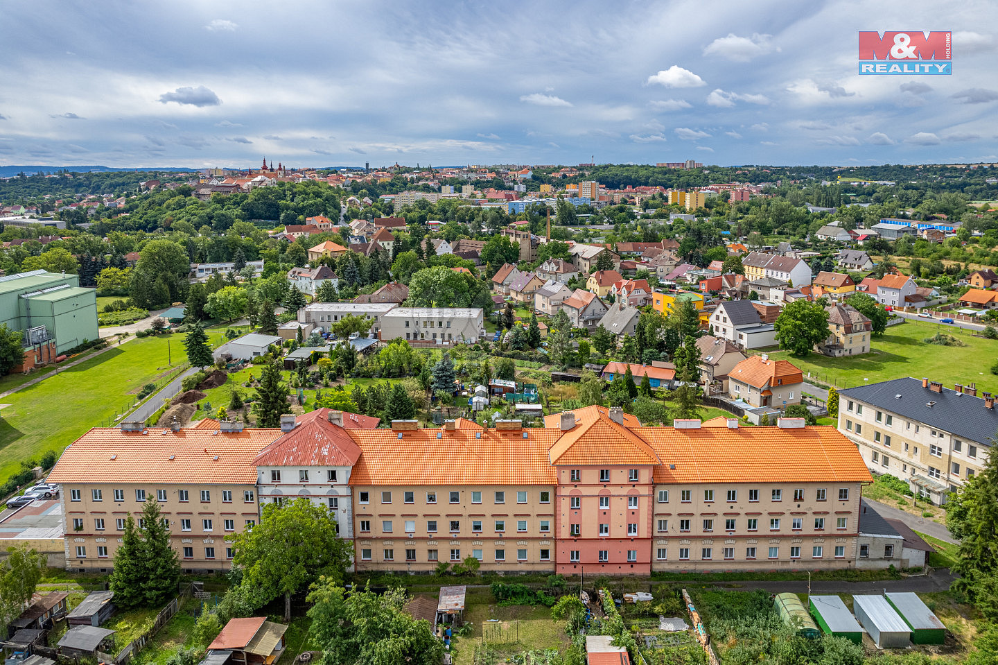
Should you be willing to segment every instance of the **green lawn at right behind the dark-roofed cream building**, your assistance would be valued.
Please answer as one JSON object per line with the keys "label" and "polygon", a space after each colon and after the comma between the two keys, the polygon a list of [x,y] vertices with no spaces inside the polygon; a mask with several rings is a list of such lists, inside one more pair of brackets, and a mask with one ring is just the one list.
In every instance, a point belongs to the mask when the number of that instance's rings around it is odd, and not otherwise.
{"label": "green lawn at right behind the dark-roofed cream building", "polygon": [[[947,387],[953,383],[977,383],[978,390],[998,392],[998,376],[989,371],[998,355],[998,341],[975,337],[970,331],[942,327],[963,341],[965,346],[926,344],[922,339],[935,334],[937,324],[906,321],[892,326],[880,337],[873,337],[872,352],[851,357],[827,357],[810,353],[800,358],[788,351],[773,350],[769,357],[789,360],[811,378],[839,388],[897,378],[928,376],[942,380]],[[979,394],[979,393],[978,393]]]}

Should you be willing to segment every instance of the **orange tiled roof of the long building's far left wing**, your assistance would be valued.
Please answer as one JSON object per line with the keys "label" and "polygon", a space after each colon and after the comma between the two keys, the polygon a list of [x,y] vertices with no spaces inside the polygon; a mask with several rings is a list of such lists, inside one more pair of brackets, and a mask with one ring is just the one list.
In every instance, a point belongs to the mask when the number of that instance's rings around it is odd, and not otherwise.
{"label": "orange tiled roof of the long building's far left wing", "polygon": [[[69,445],[49,474],[52,482],[212,482],[254,484],[256,453],[277,428],[241,432],[186,428],[125,431],[94,427]],[[173,459],[170,457],[173,456]]]}

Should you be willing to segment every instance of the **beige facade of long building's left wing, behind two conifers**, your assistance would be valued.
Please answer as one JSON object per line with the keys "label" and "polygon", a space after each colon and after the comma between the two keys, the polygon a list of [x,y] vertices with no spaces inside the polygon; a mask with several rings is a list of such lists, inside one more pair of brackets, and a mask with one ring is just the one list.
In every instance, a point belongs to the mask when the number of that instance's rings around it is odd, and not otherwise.
{"label": "beige facade of long building's left wing, behind two conifers", "polygon": [[66,565],[110,570],[129,515],[139,524],[146,497],[159,499],[170,520],[171,543],[184,570],[223,570],[232,565],[226,536],[259,518],[255,483],[65,483]]}

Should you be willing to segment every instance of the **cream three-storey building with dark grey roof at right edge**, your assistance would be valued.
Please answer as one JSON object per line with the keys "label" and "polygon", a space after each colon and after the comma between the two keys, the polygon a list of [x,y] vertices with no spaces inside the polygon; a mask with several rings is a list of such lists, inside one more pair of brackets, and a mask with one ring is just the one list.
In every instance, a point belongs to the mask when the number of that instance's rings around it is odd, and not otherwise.
{"label": "cream three-storey building with dark grey roof at right edge", "polygon": [[928,378],[895,378],[839,392],[838,430],[866,466],[933,503],[981,472],[998,431],[995,396]]}

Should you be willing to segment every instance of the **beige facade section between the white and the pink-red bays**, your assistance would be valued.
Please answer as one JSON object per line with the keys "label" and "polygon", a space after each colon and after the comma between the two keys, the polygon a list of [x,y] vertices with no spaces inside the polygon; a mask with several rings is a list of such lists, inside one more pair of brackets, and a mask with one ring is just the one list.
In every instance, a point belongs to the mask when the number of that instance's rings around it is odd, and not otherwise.
{"label": "beige facade section between the white and the pink-red bays", "polygon": [[534,572],[555,565],[550,485],[355,486],[358,571],[431,571],[473,556],[482,570]]}

